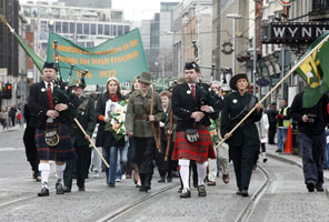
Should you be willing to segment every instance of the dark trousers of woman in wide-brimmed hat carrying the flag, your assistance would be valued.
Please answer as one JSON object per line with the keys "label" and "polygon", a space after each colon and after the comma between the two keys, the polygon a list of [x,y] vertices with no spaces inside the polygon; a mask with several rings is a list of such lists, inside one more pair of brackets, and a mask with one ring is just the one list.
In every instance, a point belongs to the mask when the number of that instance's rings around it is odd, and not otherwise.
{"label": "dark trousers of woman in wide-brimmed hat carrying the flag", "polygon": [[259,150],[259,145],[230,145],[229,154],[233,161],[238,189],[249,189],[257,150]]}

